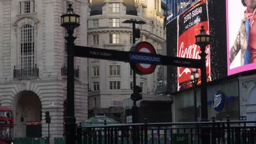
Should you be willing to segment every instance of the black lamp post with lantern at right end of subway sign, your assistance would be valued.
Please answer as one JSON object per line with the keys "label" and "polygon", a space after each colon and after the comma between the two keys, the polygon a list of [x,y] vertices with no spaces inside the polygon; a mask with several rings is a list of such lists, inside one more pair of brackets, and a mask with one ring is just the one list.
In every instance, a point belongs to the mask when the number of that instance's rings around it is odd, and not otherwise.
{"label": "black lamp post with lantern at right end of subway sign", "polygon": [[206,81],[206,46],[210,44],[210,35],[205,33],[204,26],[201,26],[200,33],[195,36],[196,45],[200,46],[201,53],[201,121],[208,121],[207,109],[207,81]]}

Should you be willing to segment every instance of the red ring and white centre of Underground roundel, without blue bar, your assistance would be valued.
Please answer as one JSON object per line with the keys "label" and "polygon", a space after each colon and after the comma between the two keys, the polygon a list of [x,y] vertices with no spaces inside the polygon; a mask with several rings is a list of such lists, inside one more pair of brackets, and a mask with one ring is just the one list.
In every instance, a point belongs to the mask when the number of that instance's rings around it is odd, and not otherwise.
{"label": "red ring and white centre of Underground roundel, without blue bar", "polygon": [[[132,45],[130,52],[143,52],[143,53],[150,53],[156,54],[154,46],[147,41],[142,41],[139,43],[135,43]],[[154,57],[150,57],[147,55],[130,55],[130,59],[137,58],[144,61],[154,61]],[[156,68],[156,64],[147,64],[147,63],[136,63],[130,62],[130,65],[133,70],[139,75],[147,75],[152,74]]]}

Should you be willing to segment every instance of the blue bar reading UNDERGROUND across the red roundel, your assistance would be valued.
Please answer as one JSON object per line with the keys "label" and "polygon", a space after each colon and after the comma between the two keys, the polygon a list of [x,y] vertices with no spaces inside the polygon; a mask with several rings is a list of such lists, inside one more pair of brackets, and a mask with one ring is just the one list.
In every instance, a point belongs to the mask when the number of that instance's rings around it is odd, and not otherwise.
{"label": "blue bar reading UNDERGROUND across the red roundel", "polygon": [[161,63],[161,58],[160,56],[147,55],[145,53],[130,53],[130,61],[159,64]]}

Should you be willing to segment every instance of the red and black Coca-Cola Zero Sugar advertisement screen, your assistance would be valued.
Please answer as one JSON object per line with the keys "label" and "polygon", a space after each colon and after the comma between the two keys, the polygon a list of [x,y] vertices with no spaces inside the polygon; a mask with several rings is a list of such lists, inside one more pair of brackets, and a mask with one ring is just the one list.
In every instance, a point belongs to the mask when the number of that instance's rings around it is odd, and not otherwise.
{"label": "red and black Coca-Cola Zero Sugar advertisement screen", "polygon": [[[207,4],[196,4],[193,8],[185,11],[178,16],[178,35],[177,35],[177,57],[200,59],[200,47],[195,45],[195,35],[199,34],[201,26],[204,26],[205,32],[209,33]],[[206,47],[206,73],[210,80],[210,45]],[[191,68],[178,67],[178,91],[191,87],[189,75]],[[199,73],[201,73],[199,69]],[[200,74],[201,75],[201,74]],[[201,81],[197,85],[200,85]]]}

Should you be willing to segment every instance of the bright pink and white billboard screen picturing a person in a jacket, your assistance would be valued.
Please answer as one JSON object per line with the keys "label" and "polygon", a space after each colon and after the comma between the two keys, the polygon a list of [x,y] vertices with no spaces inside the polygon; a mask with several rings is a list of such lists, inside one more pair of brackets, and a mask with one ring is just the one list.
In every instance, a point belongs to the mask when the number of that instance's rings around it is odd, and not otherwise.
{"label": "bright pink and white billboard screen picturing a person in a jacket", "polygon": [[248,2],[226,0],[228,75],[256,69],[256,2]]}

